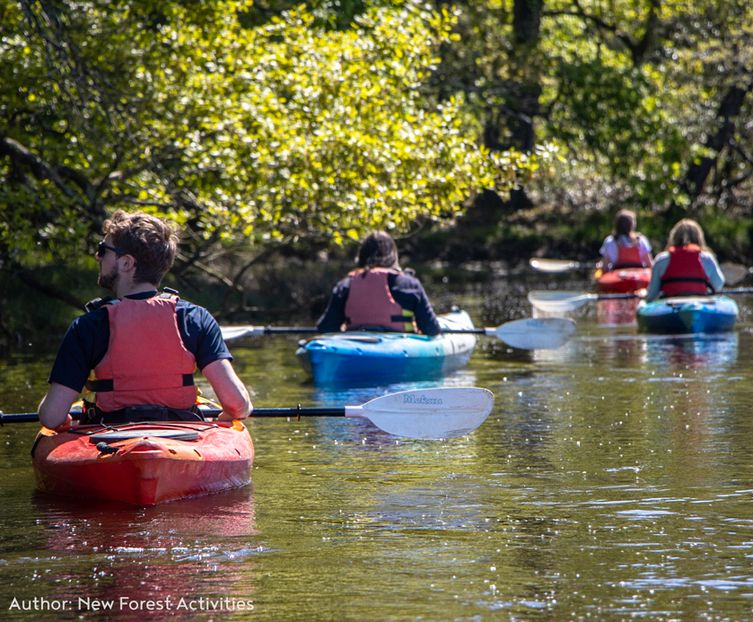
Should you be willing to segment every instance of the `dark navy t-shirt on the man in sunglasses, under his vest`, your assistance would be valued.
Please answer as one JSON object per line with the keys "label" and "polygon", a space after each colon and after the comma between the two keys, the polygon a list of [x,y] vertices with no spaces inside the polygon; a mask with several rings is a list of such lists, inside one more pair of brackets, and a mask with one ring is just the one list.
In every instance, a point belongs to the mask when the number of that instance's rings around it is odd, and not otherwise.
{"label": "dark navy t-shirt on the man in sunglasses, under his vest", "polygon": [[[136,293],[126,298],[145,300],[154,295],[156,292],[153,291]],[[223,358],[232,361],[230,351],[223,341],[223,333],[209,311],[184,300],[177,302],[175,311],[180,338],[188,352],[196,357],[199,370]],[[83,390],[89,373],[100,364],[108,347],[107,306],[84,313],[71,323],[63,337],[48,382],[57,382],[75,391]]]}

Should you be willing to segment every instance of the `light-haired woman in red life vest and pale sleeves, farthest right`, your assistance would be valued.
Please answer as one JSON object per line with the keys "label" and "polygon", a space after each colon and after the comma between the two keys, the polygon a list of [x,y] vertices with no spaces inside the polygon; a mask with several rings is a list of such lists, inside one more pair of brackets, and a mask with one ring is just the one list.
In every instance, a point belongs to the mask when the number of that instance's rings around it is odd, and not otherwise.
{"label": "light-haired woman in red life vest and pale sleeves, farthest right", "polygon": [[722,269],[706,246],[703,230],[696,221],[683,218],[670,231],[667,249],[653,262],[646,300],[705,295],[723,285]]}

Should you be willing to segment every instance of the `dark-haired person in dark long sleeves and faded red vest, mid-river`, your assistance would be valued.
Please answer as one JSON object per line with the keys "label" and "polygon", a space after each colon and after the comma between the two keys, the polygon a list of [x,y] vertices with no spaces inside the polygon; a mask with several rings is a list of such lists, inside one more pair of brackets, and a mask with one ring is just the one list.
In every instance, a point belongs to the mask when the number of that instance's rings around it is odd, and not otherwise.
{"label": "dark-haired person in dark long sleeves and faded red vest, mid-river", "polygon": [[442,332],[423,285],[412,270],[399,267],[398,247],[389,233],[364,238],[357,266],[332,290],[317,322],[320,333],[385,330],[433,337]]}

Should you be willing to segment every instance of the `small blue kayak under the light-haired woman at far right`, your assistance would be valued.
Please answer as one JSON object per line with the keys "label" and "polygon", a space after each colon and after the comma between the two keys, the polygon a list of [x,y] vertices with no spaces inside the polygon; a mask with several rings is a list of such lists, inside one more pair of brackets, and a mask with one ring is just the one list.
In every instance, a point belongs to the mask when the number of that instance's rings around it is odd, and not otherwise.
{"label": "small blue kayak under the light-haired woman at far right", "polygon": [[727,296],[674,296],[641,301],[638,329],[650,333],[712,333],[731,330],[740,309]]}

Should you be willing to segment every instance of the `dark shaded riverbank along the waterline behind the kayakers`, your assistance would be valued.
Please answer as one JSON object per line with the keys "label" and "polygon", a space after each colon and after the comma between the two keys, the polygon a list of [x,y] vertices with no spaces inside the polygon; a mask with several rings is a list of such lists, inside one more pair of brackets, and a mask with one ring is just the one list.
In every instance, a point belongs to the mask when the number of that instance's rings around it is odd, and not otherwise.
{"label": "dark shaded riverbank along the waterline behind the kayakers", "polygon": [[[639,228],[649,237],[654,253],[666,242],[667,222],[658,215],[641,216]],[[750,263],[749,231],[743,223],[720,217],[702,219],[702,223],[706,241],[720,261]],[[611,213],[606,210],[526,207],[490,199],[477,202],[451,223],[425,223],[416,232],[396,234],[396,238],[401,266],[416,270],[435,301],[453,287],[499,278],[511,279],[513,284],[536,279],[529,267],[531,257],[594,261],[610,228]],[[357,248],[355,241],[333,249],[322,241],[303,239],[270,254],[229,287],[227,276],[236,274],[258,252],[236,249],[226,257],[218,254],[211,271],[175,269],[162,285],[205,306],[225,323],[311,324],[325,310],[332,287],[355,266]],[[582,277],[583,286],[589,287],[588,275]],[[93,258],[86,268],[39,267],[24,279],[0,273],[0,345],[39,338],[59,340],[85,302],[106,294],[96,281]],[[558,282],[558,277],[547,276],[544,285]],[[442,302],[434,304],[440,312],[449,311]]]}

